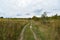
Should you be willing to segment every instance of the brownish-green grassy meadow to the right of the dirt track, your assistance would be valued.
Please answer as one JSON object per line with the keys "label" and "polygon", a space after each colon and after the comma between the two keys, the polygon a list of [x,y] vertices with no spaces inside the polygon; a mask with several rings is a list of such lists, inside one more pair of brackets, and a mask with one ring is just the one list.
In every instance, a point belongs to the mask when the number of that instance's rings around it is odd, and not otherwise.
{"label": "brownish-green grassy meadow to the right of the dirt track", "polygon": [[60,19],[34,20],[33,30],[41,40],[60,40]]}

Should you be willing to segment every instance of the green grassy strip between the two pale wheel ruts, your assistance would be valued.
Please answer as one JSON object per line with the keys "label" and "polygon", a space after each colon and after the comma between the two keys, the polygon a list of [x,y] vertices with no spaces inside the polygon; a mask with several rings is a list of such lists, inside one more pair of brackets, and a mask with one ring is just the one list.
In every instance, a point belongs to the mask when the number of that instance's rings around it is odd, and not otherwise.
{"label": "green grassy strip between the two pale wheel ruts", "polygon": [[28,25],[24,31],[24,38],[23,40],[35,40],[34,36],[30,30],[30,25]]}

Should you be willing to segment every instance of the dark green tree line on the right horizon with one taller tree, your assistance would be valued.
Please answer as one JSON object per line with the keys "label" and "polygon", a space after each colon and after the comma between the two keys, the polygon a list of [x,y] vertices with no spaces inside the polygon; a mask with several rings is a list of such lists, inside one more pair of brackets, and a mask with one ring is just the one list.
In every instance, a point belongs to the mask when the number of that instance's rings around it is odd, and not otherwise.
{"label": "dark green tree line on the right horizon with one taller tree", "polygon": [[34,19],[34,20],[38,20],[38,19],[43,19],[43,20],[45,20],[45,19],[47,19],[47,20],[48,20],[48,19],[60,19],[60,15],[58,16],[57,14],[55,14],[54,16],[48,17],[47,13],[44,12],[44,13],[41,15],[41,17],[33,16],[32,19]]}

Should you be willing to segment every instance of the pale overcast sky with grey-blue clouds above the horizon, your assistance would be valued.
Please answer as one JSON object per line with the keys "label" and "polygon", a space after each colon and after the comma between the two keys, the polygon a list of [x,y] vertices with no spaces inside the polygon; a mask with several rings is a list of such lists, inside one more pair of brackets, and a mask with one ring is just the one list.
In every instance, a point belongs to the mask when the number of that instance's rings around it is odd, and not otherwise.
{"label": "pale overcast sky with grey-blue clouds above the horizon", "polygon": [[60,0],[0,0],[0,17],[29,18],[60,15]]}

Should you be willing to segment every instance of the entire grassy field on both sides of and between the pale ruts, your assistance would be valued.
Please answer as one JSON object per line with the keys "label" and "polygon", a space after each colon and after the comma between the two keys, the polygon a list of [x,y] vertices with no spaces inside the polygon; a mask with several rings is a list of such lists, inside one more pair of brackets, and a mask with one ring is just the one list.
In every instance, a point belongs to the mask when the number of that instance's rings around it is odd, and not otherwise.
{"label": "entire grassy field on both sides of and between the pale ruts", "polygon": [[23,40],[35,40],[30,29],[31,24],[37,39],[60,40],[59,18],[0,18],[0,40],[18,40],[22,29],[27,24],[29,25],[24,30]]}

